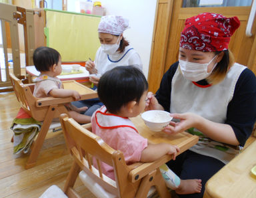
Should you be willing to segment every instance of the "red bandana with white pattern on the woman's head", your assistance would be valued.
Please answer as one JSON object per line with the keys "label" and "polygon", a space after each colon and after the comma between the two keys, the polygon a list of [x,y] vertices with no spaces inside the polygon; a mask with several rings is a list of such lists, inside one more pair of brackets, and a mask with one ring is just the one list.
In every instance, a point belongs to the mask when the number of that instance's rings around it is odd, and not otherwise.
{"label": "red bandana with white pattern on the woman's head", "polygon": [[230,37],[239,27],[237,17],[201,13],[185,21],[179,46],[190,50],[215,52],[227,50]]}

